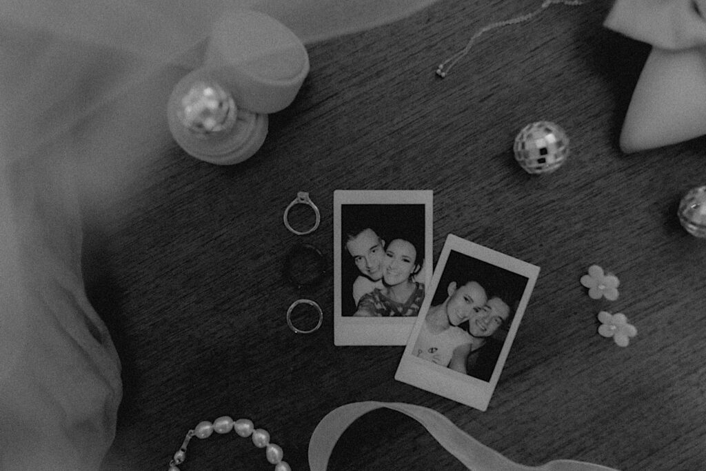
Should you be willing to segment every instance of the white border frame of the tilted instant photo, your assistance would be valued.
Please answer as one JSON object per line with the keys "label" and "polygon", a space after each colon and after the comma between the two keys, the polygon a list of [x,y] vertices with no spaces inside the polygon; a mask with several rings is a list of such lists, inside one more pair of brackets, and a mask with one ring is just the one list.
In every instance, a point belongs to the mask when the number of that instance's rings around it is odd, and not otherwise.
{"label": "white border frame of the tilted instant photo", "polygon": [[[462,374],[412,354],[414,344],[417,342],[417,337],[419,336],[419,330],[421,330],[424,319],[426,318],[426,313],[429,311],[431,299],[436,293],[438,282],[441,279],[441,275],[443,275],[446,261],[448,261],[448,256],[451,251],[457,251],[461,254],[477,258],[527,278],[525,291],[520,298],[520,303],[517,306],[513,322],[503,342],[503,348],[489,382],[481,381],[473,376]],[[395,379],[403,383],[411,384],[412,386],[417,386],[417,388],[428,390],[431,393],[442,395],[458,403],[475,407],[478,410],[487,410],[495,386],[498,383],[498,378],[505,365],[505,359],[508,357],[510,347],[512,347],[517,328],[520,326],[522,316],[525,314],[525,308],[527,307],[527,302],[530,300],[530,295],[534,289],[534,283],[537,282],[538,275],[539,267],[537,266],[449,234],[441,251],[441,256],[439,256],[438,262],[436,263],[436,269],[434,270],[429,290],[426,292],[424,304],[419,310],[419,316],[417,317],[416,323],[414,323],[411,335],[409,335],[409,342],[407,342],[405,352],[402,354],[400,365],[397,366]]]}

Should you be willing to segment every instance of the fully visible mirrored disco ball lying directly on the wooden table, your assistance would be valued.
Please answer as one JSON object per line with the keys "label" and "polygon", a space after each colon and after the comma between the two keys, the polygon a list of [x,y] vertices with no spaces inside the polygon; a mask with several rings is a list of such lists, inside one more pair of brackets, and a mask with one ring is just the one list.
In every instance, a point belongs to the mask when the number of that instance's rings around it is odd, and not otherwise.
{"label": "fully visible mirrored disco ball lying directly on the wooden table", "polygon": [[515,160],[525,172],[554,172],[569,155],[569,138],[561,127],[550,121],[527,124],[515,138]]}

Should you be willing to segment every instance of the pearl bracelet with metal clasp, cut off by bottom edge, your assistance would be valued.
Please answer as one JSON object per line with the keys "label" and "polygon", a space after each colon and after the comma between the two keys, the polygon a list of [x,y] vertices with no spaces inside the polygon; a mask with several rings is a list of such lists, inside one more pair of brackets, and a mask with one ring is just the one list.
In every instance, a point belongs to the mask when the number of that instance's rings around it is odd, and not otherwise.
{"label": "pearl bracelet with metal clasp, cut off by bottom edge", "polygon": [[217,434],[227,434],[229,431],[235,430],[239,436],[247,437],[251,436],[253,443],[258,448],[265,448],[265,455],[267,460],[275,465],[275,471],[292,471],[287,462],[282,461],[285,452],[282,451],[282,447],[270,443],[270,434],[264,429],[256,429],[253,422],[250,419],[238,419],[233,420],[227,415],[223,417],[218,417],[211,422],[204,420],[199,422],[195,429],[189,430],[184,439],[184,443],[181,443],[181,448],[177,453],[174,453],[174,458],[169,461],[169,471],[179,471],[177,465],[181,465],[186,460],[186,447],[189,446],[189,441],[193,436],[198,436],[199,439],[208,439],[211,434],[215,431]]}

